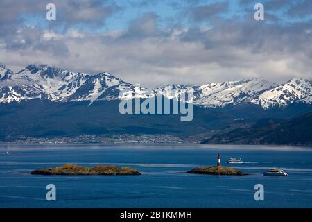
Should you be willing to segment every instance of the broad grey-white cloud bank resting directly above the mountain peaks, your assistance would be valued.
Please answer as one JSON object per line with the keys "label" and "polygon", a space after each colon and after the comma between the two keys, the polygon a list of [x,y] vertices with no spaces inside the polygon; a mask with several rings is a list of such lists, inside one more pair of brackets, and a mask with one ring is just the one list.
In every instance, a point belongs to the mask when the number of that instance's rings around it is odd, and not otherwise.
{"label": "broad grey-white cloud bank resting directly above the mountain peaks", "polygon": [[[80,2],[89,8],[100,6],[98,1]],[[198,1],[189,3],[190,11],[199,10]],[[256,22],[253,8],[241,19],[225,19],[218,15],[228,6],[201,6],[205,12],[187,24],[166,24],[157,13],[146,12],[132,17],[124,29],[102,28],[96,32],[72,24],[91,23],[94,19],[92,26],[97,25],[109,13],[101,19],[94,15],[88,21],[89,15],[83,12],[66,20],[69,26],[65,31],[26,26],[11,17],[8,23],[14,25],[0,36],[0,62],[15,71],[29,63],[49,63],[89,73],[108,71],[144,87],[168,83],[201,85],[241,78],[282,82],[293,77],[312,77],[311,21],[287,25]],[[75,7],[79,8],[73,6],[68,12],[75,11]],[[206,15],[209,10],[211,14]],[[218,19],[210,19],[212,15]],[[210,19],[211,26],[202,26],[206,19]],[[5,24],[1,22],[0,26]]]}

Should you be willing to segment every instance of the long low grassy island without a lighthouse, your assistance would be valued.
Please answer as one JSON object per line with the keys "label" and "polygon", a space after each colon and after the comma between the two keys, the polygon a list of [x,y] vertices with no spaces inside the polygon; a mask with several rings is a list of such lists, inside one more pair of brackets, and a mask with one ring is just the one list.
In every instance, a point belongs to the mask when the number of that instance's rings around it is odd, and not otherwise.
{"label": "long low grassy island without a lighthouse", "polygon": [[32,171],[34,175],[141,175],[136,169],[129,167],[98,166],[81,167],[74,164],[65,164],[62,167],[37,169]]}

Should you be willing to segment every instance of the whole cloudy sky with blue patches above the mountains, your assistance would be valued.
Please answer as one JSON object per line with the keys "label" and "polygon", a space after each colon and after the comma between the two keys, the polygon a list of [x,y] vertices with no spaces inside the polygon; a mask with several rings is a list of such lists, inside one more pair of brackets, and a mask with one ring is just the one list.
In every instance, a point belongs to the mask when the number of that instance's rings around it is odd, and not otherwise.
{"label": "whole cloudy sky with blue patches above the mountains", "polygon": [[312,78],[311,30],[311,0],[1,0],[0,64],[107,71],[144,87],[282,83]]}

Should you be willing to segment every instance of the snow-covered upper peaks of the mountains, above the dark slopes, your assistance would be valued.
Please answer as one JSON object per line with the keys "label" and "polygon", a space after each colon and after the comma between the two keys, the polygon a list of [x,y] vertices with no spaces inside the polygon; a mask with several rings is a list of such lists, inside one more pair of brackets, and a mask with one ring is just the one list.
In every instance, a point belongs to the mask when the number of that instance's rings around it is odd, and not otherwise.
{"label": "snow-covered upper peaks of the mountains, above the dark slopes", "polygon": [[178,99],[193,94],[193,103],[207,108],[224,108],[254,103],[264,109],[292,103],[312,103],[311,80],[292,79],[281,85],[259,79],[244,79],[201,86],[166,85],[148,89],[126,83],[107,72],[85,74],[49,65],[28,65],[14,73],[0,65],[0,103],[116,100],[165,96]]}

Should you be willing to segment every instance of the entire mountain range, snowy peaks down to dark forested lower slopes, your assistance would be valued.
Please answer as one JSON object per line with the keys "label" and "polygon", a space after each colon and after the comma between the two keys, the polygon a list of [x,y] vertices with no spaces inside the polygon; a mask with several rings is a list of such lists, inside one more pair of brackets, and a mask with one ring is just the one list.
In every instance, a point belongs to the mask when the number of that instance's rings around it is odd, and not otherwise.
{"label": "entire mountain range, snowy peaks down to dark forested lower slopes", "polygon": [[[107,72],[86,74],[49,65],[14,72],[0,65],[0,142],[131,133],[207,144],[311,145],[311,87],[311,80],[301,78],[282,84],[252,78],[148,89]],[[122,99],[177,99],[188,92],[195,104],[190,122],[175,114],[123,115],[118,110]]]}

